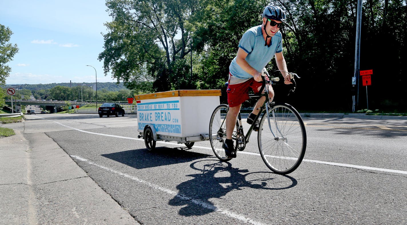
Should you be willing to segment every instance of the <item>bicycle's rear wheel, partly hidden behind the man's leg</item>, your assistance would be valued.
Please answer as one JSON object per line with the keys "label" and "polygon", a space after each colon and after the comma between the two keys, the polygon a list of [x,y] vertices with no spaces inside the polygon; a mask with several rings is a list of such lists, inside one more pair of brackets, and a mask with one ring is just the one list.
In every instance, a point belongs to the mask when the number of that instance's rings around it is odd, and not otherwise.
{"label": "bicycle's rear wheel, partly hidden behind the man's leg", "polygon": [[[223,149],[223,143],[226,139],[226,114],[228,113],[228,105],[218,105],[212,113],[209,122],[209,141],[212,147],[213,153],[220,161],[226,162],[231,160],[225,154]],[[234,146],[236,150],[236,140],[234,140]]]}

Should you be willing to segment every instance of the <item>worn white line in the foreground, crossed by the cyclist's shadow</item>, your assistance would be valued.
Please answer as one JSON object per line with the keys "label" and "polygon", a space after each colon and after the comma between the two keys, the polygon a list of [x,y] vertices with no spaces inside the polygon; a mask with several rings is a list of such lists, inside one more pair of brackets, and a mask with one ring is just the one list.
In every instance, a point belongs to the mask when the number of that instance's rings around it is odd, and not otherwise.
{"label": "worn white line in the foreground, crossed by the cyclist's shadow", "polygon": [[136,182],[145,184],[145,185],[147,185],[147,186],[149,186],[149,187],[151,187],[151,188],[153,188],[153,189],[155,189],[155,190],[159,190],[159,191],[162,191],[162,192],[164,192],[164,193],[167,193],[168,195],[172,195],[172,196],[178,197],[178,198],[180,198],[180,199],[193,202],[194,204],[196,204],[196,205],[198,205],[198,206],[201,206],[201,207],[203,207],[203,208],[207,208],[207,209],[210,209],[210,210],[214,210],[215,212],[219,212],[219,213],[221,213],[221,214],[225,214],[226,216],[232,217],[232,218],[234,218],[234,219],[238,219],[238,220],[243,221],[243,222],[245,222],[245,223],[251,223],[251,224],[254,224],[254,225],[263,225],[263,224],[264,224],[264,223],[260,223],[260,222],[258,222],[258,221],[254,221],[253,219],[250,219],[249,217],[246,217],[246,216],[243,216],[243,215],[239,215],[239,214],[230,212],[230,211],[227,210],[227,209],[220,208],[220,207],[215,206],[215,205],[212,205],[212,204],[208,204],[208,203],[206,203],[206,202],[204,202],[204,201],[201,201],[201,200],[199,200],[199,199],[194,199],[194,198],[188,197],[188,196],[186,196],[186,195],[184,195],[184,194],[177,193],[177,191],[173,191],[173,190],[171,190],[171,189],[167,189],[167,188],[164,188],[164,187],[161,187],[161,186],[152,184],[152,183],[147,182],[147,181],[145,181],[145,180],[142,180],[142,179],[140,179],[140,178],[138,178],[138,177],[131,176],[131,175],[129,175],[129,174],[122,173],[122,172],[120,172],[120,171],[116,171],[116,170],[114,170],[114,169],[111,169],[111,168],[109,168],[109,167],[105,167],[105,166],[103,166],[103,165],[98,165],[97,163],[94,163],[94,162],[92,162],[92,161],[90,161],[90,160],[88,160],[88,159],[84,159],[84,158],[82,158],[82,157],[80,157],[80,156],[76,156],[76,155],[70,155],[70,156],[71,156],[72,158],[75,158],[75,159],[79,160],[79,161],[83,161],[83,162],[89,163],[90,165],[95,165],[95,166],[97,166],[97,167],[99,167],[99,168],[101,168],[101,169],[105,169],[105,170],[107,170],[107,171],[109,171],[109,172],[112,172],[112,173],[114,173],[114,174],[118,174],[118,175],[123,176],[123,177],[125,177],[125,178],[129,178],[129,179],[134,180],[134,181],[136,181]]}

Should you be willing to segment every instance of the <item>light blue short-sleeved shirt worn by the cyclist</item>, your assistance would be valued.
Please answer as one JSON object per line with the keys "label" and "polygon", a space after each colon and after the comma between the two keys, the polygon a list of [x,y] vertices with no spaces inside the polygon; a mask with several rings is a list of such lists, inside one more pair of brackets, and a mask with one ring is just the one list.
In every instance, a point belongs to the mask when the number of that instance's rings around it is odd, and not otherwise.
{"label": "light blue short-sleeved shirt worn by the cyclist", "polygon": [[[268,47],[264,46],[265,41],[261,29],[262,25],[250,28],[243,34],[239,42],[239,48],[248,54],[246,56],[247,63],[259,72],[270,62],[274,54],[282,51],[280,30],[271,38],[271,45]],[[237,64],[236,57],[230,63],[229,72],[232,76],[240,79],[253,77]]]}

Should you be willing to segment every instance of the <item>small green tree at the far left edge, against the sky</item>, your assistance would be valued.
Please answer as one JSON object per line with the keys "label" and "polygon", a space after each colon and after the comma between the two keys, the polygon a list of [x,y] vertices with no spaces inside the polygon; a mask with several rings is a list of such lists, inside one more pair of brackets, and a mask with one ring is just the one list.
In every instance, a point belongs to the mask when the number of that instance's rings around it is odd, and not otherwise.
{"label": "small green tree at the far left edge, against the sky", "polygon": [[[0,24],[0,86],[6,84],[6,78],[10,75],[11,68],[7,66],[14,55],[18,52],[17,44],[9,43],[10,37],[13,32],[10,28],[6,28],[4,25]],[[0,90],[0,106],[4,105],[4,98],[6,92],[3,88]]]}

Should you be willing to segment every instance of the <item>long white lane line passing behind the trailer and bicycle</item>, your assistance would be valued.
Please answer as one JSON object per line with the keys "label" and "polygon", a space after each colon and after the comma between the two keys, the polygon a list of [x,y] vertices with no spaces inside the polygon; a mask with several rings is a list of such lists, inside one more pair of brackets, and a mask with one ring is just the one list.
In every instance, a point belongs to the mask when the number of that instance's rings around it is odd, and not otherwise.
{"label": "long white lane line passing behind the trailer and bicycle", "polygon": [[[53,121],[53,122],[55,122],[55,121]],[[55,122],[55,123],[60,124],[62,126],[65,126],[65,125],[61,124],[60,122]],[[107,137],[116,137],[116,138],[124,138],[124,139],[132,139],[132,140],[144,141],[144,139],[141,139],[141,138],[123,137],[123,136],[117,136],[117,135],[94,133],[94,132],[90,132],[90,131],[83,131],[83,130],[73,128],[73,127],[70,127],[70,126],[66,126],[66,127],[74,129],[76,131],[95,134],[95,135],[103,135],[103,136],[107,136]],[[157,143],[159,143],[159,142],[157,142]],[[184,146],[183,144],[177,144],[177,143],[172,143],[172,142],[165,142],[165,144],[166,145],[169,144],[169,145]],[[212,150],[212,148],[204,147],[204,146],[202,146],[202,147],[201,146],[193,146],[193,148],[201,148],[201,149]],[[260,153],[255,153],[255,152],[238,152],[238,153],[239,154],[250,154],[250,155],[260,156]],[[361,165],[353,165],[353,164],[345,164],[345,163],[326,162],[326,161],[319,161],[319,160],[312,160],[312,159],[303,159],[302,161],[311,162],[311,163],[320,163],[320,164],[326,164],[326,165],[334,165],[334,166],[340,166],[340,167],[349,167],[349,168],[355,168],[355,169],[367,169],[367,170],[382,171],[382,172],[389,172],[389,173],[396,173],[396,174],[407,174],[407,171],[397,170],[397,169],[385,169],[385,168],[377,168],[377,167],[369,167],[369,166],[361,166]]]}

